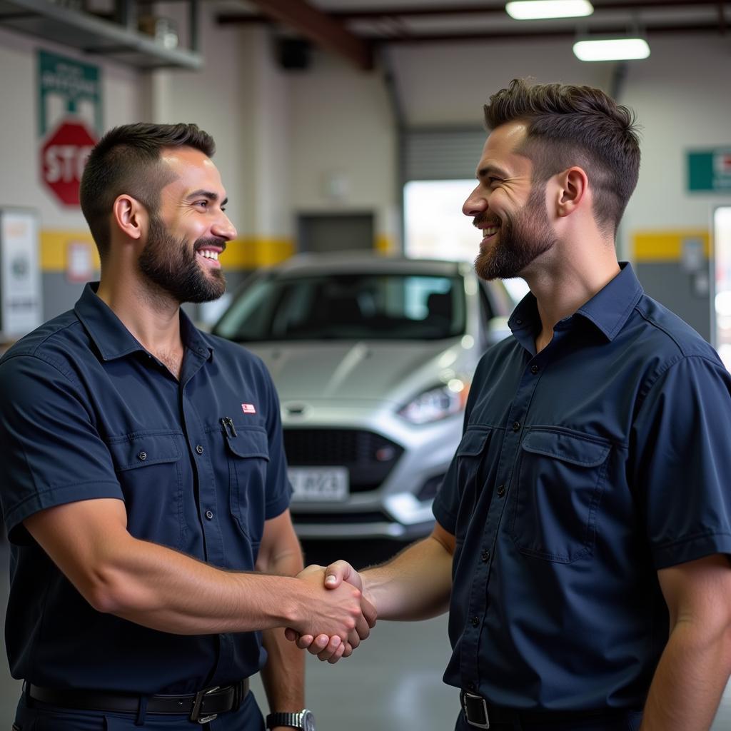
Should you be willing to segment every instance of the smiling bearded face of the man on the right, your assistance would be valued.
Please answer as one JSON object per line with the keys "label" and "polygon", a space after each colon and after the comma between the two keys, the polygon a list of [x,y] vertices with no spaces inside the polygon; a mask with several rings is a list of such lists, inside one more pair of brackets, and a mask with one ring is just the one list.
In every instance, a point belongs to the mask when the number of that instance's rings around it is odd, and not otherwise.
{"label": "smiling bearded face of the man on the right", "polygon": [[553,248],[545,183],[531,183],[531,161],[515,152],[526,124],[510,122],[491,132],[477,166],[479,183],[462,211],[482,231],[474,268],[482,279],[524,276],[534,260]]}

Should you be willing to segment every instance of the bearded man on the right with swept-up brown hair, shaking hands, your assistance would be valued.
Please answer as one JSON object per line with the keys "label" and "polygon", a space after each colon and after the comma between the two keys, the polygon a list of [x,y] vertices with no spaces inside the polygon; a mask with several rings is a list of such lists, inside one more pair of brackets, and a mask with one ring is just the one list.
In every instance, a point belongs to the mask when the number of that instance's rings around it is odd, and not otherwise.
{"label": "bearded man on the right with swept-up brown hair, shaking hands", "polygon": [[617,261],[632,113],[513,80],[485,120],[475,268],[531,292],[474,374],[431,536],[321,575],[380,618],[449,608],[458,731],[707,731],[731,672],[731,377]]}

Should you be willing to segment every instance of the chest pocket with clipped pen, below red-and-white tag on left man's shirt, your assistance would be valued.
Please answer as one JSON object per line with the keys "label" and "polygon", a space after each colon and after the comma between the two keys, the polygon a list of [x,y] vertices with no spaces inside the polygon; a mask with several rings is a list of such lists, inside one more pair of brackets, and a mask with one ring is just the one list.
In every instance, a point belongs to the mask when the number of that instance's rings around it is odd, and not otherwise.
{"label": "chest pocket with clipped pen, below red-and-white tag on left man's shirt", "polygon": [[264,532],[269,444],[265,429],[236,426],[225,432],[231,513],[251,545]]}

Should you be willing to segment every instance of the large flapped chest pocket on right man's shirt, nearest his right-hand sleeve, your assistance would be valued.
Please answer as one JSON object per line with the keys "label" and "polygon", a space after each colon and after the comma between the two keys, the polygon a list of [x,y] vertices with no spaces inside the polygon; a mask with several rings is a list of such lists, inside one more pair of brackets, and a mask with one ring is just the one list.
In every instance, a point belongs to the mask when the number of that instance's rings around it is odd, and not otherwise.
{"label": "large flapped chest pocket on right man's shirt, nearest his right-hand sleeve", "polygon": [[561,564],[591,555],[610,448],[563,430],[526,433],[511,491],[510,532],[521,553]]}

